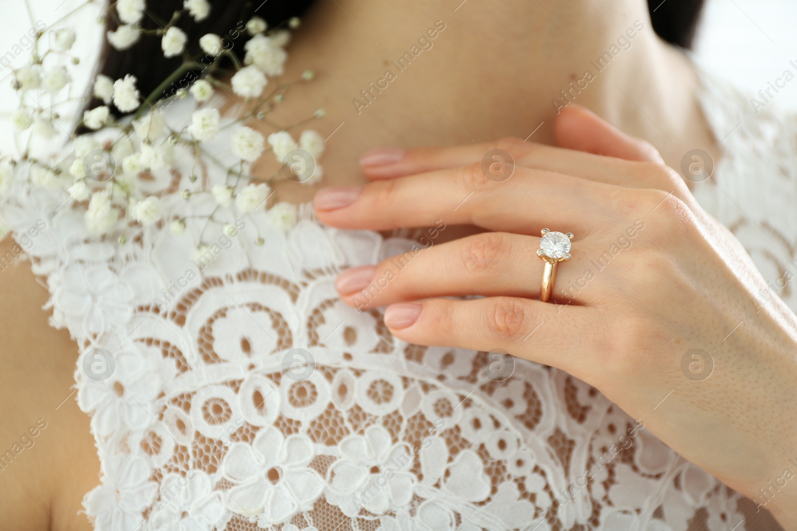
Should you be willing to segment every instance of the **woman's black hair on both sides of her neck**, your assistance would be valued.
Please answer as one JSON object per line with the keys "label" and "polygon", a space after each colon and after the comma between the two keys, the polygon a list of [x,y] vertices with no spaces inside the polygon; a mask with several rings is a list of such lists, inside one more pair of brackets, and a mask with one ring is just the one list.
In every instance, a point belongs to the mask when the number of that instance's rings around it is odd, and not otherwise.
{"label": "woman's black hair on both sides of her neck", "polygon": [[[304,14],[312,2],[313,0],[254,0],[254,2],[210,0],[211,10],[208,18],[197,22],[184,13],[176,25],[188,35],[187,51],[192,57],[201,53],[198,40],[206,33],[217,33],[232,41],[232,49],[240,56],[243,45],[249,38],[241,28],[249,18],[257,15],[266,21],[269,28],[277,27],[284,25],[292,17]],[[703,4],[704,0],[648,0],[654,30],[665,41],[689,49]],[[144,15],[141,26],[145,30],[163,28],[175,11],[182,9],[183,0],[150,0],[147,2],[147,14]],[[120,21],[116,9],[108,7],[107,10],[105,30],[112,31],[119,27]],[[235,33],[230,33],[231,31]],[[170,59],[163,57],[160,42],[160,36],[144,34],[132,48],[120,51],[114,49],[108,40],[104,39],[97,72],[112,80],[119,79],[125,74],[132,74],[138,80],[136,86],[142,97],[147,97],[162,84],[163,80],[175,72],[183,61],[182,57]],[[175,80],[173,86],[185,85],[186,80],[193,80],[196,77],[196,72],[188,72],[182,79]],[[173,91],[167,88],[160,97],[170,96],[172,93]],[[99,104],[99,100],[92,100],[87,108]]]}

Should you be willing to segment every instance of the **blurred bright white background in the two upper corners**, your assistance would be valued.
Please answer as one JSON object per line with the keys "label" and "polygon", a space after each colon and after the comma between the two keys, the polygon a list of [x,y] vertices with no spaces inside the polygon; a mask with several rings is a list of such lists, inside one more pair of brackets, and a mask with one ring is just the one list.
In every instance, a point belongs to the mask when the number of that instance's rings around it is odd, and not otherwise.
{"label": "blurred bright white background in the two upper corners", "polygon": [[[97,28],[99,6],[83,6],[85,0],[0,0],[0,57],[13,57],[12,67],[29,58],[27,50],[19,50],[20,37],[35,21],[51,25],[65,16],[74,19],[78,28],[73,47],[82,64],[77,75],[88,80],[99,51],[100,31]],[[74,12],[78,6],[77,12]],[[70,15],[71,14],[71,15]],[[33,21],[33,22],[32,22]],[[708,0],[703,14],[694,53],[701,64],[724,76],[752,94],[767,88],[787,68],[797,73],[797,2],[794,0]],[[10,56],[9,56],[10,53]],[[0,153],[14,153],[14,136],[8,121],[17,107],[17,96],[10,88],[11,68],[0,65]],[[76,83],[73,96],[80,96]],[[797,83],[787,84],[775,99],[781,107],[797,110]]]}

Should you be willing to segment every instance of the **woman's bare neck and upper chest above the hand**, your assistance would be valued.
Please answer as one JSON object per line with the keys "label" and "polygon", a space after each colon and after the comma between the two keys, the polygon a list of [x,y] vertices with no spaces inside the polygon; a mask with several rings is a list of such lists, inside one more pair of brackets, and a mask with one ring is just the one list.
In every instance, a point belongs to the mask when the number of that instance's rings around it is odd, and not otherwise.
{"label": "woman's bare neck and upper chest above the hand", "polygon": [[[291,123],[324,107],[327,116],[311,126],[324,137],[344,123],[327,143],[324,185],[357,182],[359,154],[379,146],[532,131],[529,141],[552,143],[557,112],[569,103],[648,139],[665,160],[685,152],[675,139],[695,121],[693,74],[655,35],[646,2],[459,1],[320,0],[312,8],[289,47],[285,78],[312,68],[316,80],[292,88],[274,118]],[[673,88],[672,79],[684,81]],[[277,192],[289,200],[300,193]]]}

